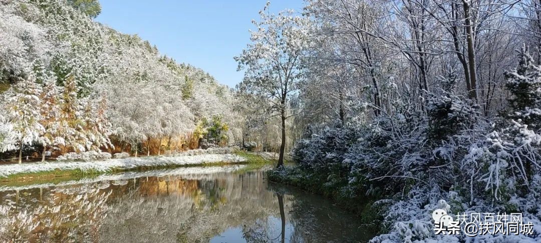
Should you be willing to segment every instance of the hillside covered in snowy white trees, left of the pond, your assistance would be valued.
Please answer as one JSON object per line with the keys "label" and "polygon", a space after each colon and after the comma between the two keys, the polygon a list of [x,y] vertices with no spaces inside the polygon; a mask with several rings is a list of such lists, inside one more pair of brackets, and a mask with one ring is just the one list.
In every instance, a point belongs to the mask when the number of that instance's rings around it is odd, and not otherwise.
{"label": "hillside covered in snowy white trees, left of the pond", "polygon": [[[24,140],[27,149],[62,151],[116,145],[143,152],[157,144],[184,149],[197,146],[210,126],[221,127],[215,143],[235,141],[239,132],[227,86],[87,14],[64,0],[0,1],[4,134],[15,131],[11,139]],[[35,119],[28,124],[21,116]],[[152,139],[158,143],[146,142]],[[3,150],[20,149],[4,143]]]}

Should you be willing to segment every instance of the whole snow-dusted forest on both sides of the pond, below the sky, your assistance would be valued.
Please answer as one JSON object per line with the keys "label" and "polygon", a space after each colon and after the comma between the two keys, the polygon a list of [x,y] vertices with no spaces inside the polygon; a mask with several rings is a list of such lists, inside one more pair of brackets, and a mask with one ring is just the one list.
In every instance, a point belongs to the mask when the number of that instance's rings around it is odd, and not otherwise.
{"label": "whole snow-dusted forest on both sides of the pond, below the sky", "polygon": [[[540,2],[269,2],[236,87],[100,10],[0,0],[0,160],[238,146],[279,154],[269,180],[373,219],[371,242],[541,240]],[[434,234],[440,207],[522,213],[533,233]]]}

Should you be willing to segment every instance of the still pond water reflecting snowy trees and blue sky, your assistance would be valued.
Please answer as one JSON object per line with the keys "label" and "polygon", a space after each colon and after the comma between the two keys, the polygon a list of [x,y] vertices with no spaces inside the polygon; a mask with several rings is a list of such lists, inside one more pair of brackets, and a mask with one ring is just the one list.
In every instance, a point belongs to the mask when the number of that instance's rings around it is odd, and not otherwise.
{"label": "still pond water reflecting snowy trees and blue sky", "polygon": [[365,242],[359,218],[246,165],[0,185],[0,242]]}

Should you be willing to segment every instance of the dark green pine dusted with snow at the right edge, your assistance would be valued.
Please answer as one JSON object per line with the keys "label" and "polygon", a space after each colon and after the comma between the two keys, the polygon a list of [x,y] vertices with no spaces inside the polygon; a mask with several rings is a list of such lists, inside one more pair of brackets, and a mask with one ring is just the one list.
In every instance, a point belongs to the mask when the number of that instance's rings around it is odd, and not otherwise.
{"label": "dark green pine dusted with snow at the right edge", "polygon": [[519,63],[517,68],[506,71],[505,86],[511,92],[509,107],[511,112],[507,118],[528,125],[533,130],[539,130],[541,122],[541,66],[534,64],[533,57],[525,46],[518,51]]}

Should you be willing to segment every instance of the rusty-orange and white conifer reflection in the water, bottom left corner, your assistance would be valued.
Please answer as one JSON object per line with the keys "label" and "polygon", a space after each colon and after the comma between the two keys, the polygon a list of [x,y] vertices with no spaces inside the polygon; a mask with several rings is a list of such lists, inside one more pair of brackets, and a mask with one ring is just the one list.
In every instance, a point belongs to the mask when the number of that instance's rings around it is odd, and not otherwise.
{"label": "rusty-orange and white conifer reflection in the water, bottom left corner", "polygon": [[[24,197],[21,197],[19,192],[4,196],[7,204],[0,206],[2,242],[99,240],[98,231],[106,215],[105,201],[110,192],[82,186],[48,191],[43,200],[29,197],[30,192],[23,194]],[[21,201],[27,204],[21,206]]]}

